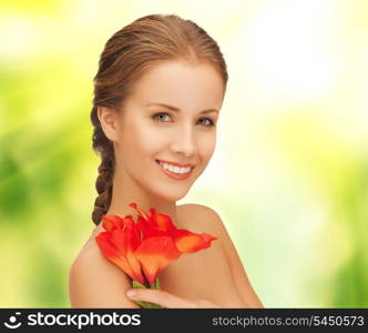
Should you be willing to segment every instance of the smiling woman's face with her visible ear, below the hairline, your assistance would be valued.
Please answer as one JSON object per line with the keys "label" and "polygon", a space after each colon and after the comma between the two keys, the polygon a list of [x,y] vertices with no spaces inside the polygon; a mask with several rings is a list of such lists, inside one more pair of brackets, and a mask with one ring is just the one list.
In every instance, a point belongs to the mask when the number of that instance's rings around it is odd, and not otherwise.
{"label": "smiling woman's face with her visible ear, below the hairline", "polygon": [[223,94],[209,63],[166,61],[144,73],[117,113],[122,186],[130,180],[164,200],[183,198],[214,152]]}

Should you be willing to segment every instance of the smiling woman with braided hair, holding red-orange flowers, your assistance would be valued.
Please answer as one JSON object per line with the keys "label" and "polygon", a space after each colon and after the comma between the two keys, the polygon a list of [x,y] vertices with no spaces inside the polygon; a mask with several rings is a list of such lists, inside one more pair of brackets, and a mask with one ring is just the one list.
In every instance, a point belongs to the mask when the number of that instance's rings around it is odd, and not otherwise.
{"label": "smiling woman with braided hair, holding red-orange flowers", "polygon": [[[205,170],[227,83],[217,43],[177,16],[135,20],[106,42],[94,78],[93,149],[101,157],[92,220],[96,228],[70,270],[73,307],[263,307],[218,214],[176,205]],[[209,249],[183,255],[160,274],[162,290],[135,290],[94,238],[101,216],[155,208],[178,229],[206,232]]]}

